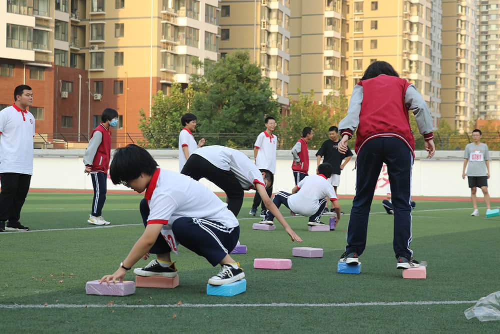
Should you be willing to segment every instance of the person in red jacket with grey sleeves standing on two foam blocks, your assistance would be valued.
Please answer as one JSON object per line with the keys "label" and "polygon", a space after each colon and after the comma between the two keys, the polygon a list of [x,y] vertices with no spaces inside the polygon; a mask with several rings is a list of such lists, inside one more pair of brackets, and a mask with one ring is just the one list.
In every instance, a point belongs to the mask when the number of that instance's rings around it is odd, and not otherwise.
{"label": "person in red jacket with grey sleeves standing on two foam blocks", "polygon": [[408,111],[415,116],[425,140],[427,158],[434,156],[432,118],[415,86],[383,61],[373,62],[354,86],[347,115],[340,121],[340,153],[347,152],[347,142],[354,131],[357,154],[356,194],[352,200],[347,246],[339,262],[359,263],[366,247],[366,232],[371,201],[382,164],[387,165],[394,206],[393,249],[397,269],[419,266],[409,249],[411,242],[411,168],[415,140],[409,125]]}

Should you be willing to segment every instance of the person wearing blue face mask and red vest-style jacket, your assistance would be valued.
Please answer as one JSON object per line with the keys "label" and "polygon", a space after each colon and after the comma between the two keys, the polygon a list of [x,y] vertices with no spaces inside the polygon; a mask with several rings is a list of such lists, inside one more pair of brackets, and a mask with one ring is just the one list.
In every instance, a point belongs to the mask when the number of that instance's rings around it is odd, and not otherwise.
{"label": "person wearing blue face mask and red vest-style jacket", "polygon": [[118,125],[116,110],[106,108],[102,112],[101,123],[94,129],[88,141],[88,147],[83,155],[84,173],[90,174],[94,195],[92,209],[87,222],[93,225],[109,225],[102,218],[102,207],[106,200],[106,180],[111,156],[111,129]]}

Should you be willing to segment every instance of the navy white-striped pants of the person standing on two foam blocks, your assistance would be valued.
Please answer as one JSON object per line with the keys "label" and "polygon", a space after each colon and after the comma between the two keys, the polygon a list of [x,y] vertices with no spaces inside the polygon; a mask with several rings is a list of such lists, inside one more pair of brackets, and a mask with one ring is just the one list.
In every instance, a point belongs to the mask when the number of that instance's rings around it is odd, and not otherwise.
{"label": "navy white-striped pants of the person standing on two foam blocks", "polygon": [[373,193],[382,168],[387,165],[391,200],[394,207],[393,249],[396,258],[412,256],[411,167],[409,147],[396,137],[377,137],[367,141],[357,154],[356,195],[352,200],[345,251],[361,255],[366,247],[366,231]]}

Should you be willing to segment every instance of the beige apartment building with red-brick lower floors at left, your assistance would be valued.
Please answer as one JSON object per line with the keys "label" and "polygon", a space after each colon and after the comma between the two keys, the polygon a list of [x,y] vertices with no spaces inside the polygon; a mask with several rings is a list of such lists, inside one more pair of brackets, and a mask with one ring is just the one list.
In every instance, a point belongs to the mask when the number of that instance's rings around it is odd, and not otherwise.
{"label": "beige apartment building with red-brick lower floors at left", "polygon": [[153,94],[217,61],[218,13],[218,0],[0,1],[0,104],[30,85],[36,131],[73,142],[114,108],[115,140],[130,142]]}

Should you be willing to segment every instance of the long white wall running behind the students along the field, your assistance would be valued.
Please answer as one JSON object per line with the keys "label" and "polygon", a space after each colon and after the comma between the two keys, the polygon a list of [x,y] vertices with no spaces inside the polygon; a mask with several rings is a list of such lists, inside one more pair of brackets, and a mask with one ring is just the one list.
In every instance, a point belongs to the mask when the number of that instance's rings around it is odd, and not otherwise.
{"label": "long white wall running behind the students along the field", "polygon": [[[90,177],[83,173],[84,150],[35,150],[33,176],[31,188],[48,189],[92,189]],[[150,150],[151,155],[164,169],[178,171],[177,150]],[[243,150],[248,157],[253,157],[253,151]],[[315,151],[309,151],[309,174],[315,173],[316,157]],[[470,196],[467,180],[462,180],[463,151],[438,151],[436,156],[427,160],[426,153],[417,151],[413,165],[413,196]],[[500,152],[490,152],[490,172],[488,180],[489,193],[491,197],[500,197],[498,184],[498,173],[500,169]],[[345,166],[340,176],[338,193],[340,195],[354,194],[355,157]],[[293,188],[293,177],[291,172],[291,154],[287,150],[277,153],[276,174],[273,192],[279,190],[290,191]],[[377,183],[376,195],[385,195],[386,185],[381,173]],[[218,191],[217,187],[206,180],[202,183],[210,189]],[[122,185],[113,185],[108,177],[107,186],[109,190],[125,190]],[[482,193],[478,191],[478,196]]]}

